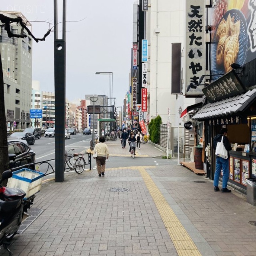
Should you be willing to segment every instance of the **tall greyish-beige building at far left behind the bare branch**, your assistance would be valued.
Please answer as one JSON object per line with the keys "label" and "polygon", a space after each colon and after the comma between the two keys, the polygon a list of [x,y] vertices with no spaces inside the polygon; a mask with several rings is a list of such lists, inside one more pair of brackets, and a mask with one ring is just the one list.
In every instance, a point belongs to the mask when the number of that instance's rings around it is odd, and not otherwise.
{"label": "tall greyish-beige building at far left behind the bare branch", "polygon": [[[30,22],[21,12],[12,12],[22,17],[31,30]],[[13,34],[21,33],[21,26],[10,24]],[[26,30],[23,31],[27,34]],[[4,99],[6,120],[13,128],[30,126],[31,86],[32,86],[32,38],[9,38],[4,26],[0,27],[0,51],[4,73]],[[23,113],[23,117],[21,116]],[[22,124],[23,122],[23,124]]]}

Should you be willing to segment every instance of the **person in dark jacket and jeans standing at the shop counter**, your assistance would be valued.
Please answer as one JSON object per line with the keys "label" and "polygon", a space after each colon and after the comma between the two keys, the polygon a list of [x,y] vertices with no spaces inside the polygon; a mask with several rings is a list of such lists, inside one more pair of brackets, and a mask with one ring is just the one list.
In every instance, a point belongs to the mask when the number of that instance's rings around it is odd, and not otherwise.
{"label": "person in dark jacket and jeans standing at the shop counter", "polygon": [[[220,130],[220,134],[216,135],[213,139],[213,146],[214,150],[216,150],[218,142],[221,142],[223,137],[223,144],[227,151],[232,150],[230,142],[227,138],[228,135],[228,129],[222,127]],[[220,178],[220,172],[221,169],[223,170],[223,179],[222,179],[222,189],[221,192],[231,192],[230,189],[227,188],[228,184],[228,178],[229,178],[229,152],[228,152],[228,158],[224,159],[220,156],[216,156],[216,170],[214,174],[214,191],[219,191],[219,178]]]}

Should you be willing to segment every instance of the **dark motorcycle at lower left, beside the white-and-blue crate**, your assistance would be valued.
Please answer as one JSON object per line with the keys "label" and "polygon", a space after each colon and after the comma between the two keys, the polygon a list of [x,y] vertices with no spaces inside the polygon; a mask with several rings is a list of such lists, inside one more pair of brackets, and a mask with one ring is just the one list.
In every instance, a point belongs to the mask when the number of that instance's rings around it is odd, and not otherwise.
{"label": "dark motorcycle at lower left, beside the white-and-blue crate", "polygon": [[26,193],[19,188],[1,186],[4,180],[12,177],[11,171],[4,171],[0,180],[0,246],[6,249],[9,256],[12,252],[8,248],[22,221],[29,215],[26,214],[33,204],[35,196],[24,200]]}

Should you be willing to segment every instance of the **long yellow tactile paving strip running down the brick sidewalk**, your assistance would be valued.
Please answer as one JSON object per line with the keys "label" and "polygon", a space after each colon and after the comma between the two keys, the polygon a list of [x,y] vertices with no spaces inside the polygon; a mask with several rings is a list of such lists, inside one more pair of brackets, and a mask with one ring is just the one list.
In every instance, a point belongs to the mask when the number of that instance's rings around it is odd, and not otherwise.
{"label": "long yellow tactile paving strip running down the brick sidewalk", "polygon": [[202,256],[145,168],[137,167],[179,256]]}

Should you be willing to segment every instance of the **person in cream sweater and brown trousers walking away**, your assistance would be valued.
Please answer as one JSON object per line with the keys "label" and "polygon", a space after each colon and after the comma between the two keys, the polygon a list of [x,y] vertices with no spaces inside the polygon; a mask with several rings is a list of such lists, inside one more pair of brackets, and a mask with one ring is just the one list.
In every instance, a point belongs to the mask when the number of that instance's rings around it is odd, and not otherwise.
{"label": "person in cream sweater and brown trousers walking away", "polygon": [[106,165],[106,159],[108,159],[109,152],[108,152],[108,146],[104,143],[105,138],[103,136],[100,137],[99,143],[96,144],[94,148],[94,152],[97,152],[96,164],[97,164],[97,170],[98,175],[104,176],[105,175],[105,165]]}

